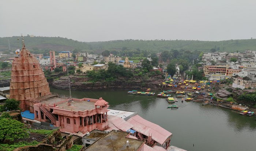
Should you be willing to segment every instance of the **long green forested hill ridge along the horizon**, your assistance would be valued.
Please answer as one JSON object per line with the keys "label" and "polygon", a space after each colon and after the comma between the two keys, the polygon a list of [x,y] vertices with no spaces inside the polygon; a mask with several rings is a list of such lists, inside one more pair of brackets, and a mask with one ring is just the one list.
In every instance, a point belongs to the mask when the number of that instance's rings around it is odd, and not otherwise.
{"label": "long green forested hill ridge along the horizon", "polygon": [[[21,47],[20,37],[0,37],[0,51],[8,50],[8,39],[11,50]],[[195,41],[195,40],[116,40],[106,42],[79,42],[72,39],[61,37],[30,37],[25,36],[25,44],[29,49],[52,49],[52,50],[121,50],[123,48],[141,49],[141,50],[200,50],[207,52],[215,48],[219,52],[244,51],[246,49],[256,50],[256,39],[237,39],[227,41]]]}

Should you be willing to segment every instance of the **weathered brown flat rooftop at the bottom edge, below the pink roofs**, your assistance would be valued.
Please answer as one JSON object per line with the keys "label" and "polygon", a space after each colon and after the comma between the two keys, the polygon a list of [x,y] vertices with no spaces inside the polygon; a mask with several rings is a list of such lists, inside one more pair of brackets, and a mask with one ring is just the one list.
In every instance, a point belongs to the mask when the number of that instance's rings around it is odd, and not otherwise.
{"label": "weathered brown flat rooftop at the bottom edge, below the pink roofs", "polygon": [[[95,143],[91,144],[86,151],[136,151],[142,145],[143,141],[126,138],[129,133],[121,131],[111,131]],[[129,141],[129,147],[126,142]]]}

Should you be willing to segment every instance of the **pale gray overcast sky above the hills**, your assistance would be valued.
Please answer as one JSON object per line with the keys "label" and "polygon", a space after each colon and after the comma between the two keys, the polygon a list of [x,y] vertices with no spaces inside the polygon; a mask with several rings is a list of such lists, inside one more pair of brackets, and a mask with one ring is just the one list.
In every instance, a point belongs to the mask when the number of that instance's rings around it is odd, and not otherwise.
{"label": "pale gray overcast sky above the hills", "polygon": [[256,38],[256,0],[1,0],[0,37]]}

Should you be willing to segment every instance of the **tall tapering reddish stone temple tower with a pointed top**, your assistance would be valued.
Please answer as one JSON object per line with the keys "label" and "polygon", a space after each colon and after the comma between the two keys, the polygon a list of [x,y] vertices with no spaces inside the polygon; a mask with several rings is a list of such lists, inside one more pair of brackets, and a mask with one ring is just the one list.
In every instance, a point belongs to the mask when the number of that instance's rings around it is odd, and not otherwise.
{"label": "tall tapering reddish stone temple tower with a pointed top", "polygon": [[49,84],[38,60],[23,45],[12,63],[10,97],[20,101],[20,108],[33,111],[30,99],[50,94]]}

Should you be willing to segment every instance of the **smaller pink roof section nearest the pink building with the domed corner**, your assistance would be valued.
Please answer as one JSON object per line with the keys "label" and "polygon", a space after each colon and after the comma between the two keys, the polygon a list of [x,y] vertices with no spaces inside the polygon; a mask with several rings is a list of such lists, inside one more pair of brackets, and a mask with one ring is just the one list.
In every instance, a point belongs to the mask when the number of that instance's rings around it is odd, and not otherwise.
{"label": "smaller pink roof section nearest the pink building with the domed corner", "polygon": [[133,125],[130,124],[129,122],[125,121],[123,118],[121,117],[117,117],[117,116],[111,116],[108,115],[108,120],[110,123],[112,123],[115,127],[117,127],[118,129],[121,129],[122,131],[127,131],[128,129],[132,128]]}

